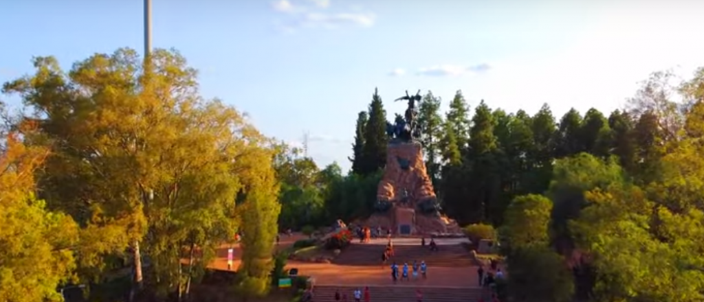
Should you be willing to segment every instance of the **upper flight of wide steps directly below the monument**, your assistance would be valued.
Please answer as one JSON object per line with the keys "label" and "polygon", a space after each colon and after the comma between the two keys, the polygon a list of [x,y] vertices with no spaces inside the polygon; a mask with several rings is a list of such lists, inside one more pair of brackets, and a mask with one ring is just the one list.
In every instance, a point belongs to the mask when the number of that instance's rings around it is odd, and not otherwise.
{"label": "upper flight of wide steps directly below the monument", "polygon": [[[429,267],[469,267],[476,265],[470,252],[462,244],[440,245],[439,251],[430,251],[420,245],[394,247],[394,256],[387,264],[425,261]],[[351,244],[334,259],[339,265],[382,265],[382,253],[386,247],[379,244]]]}

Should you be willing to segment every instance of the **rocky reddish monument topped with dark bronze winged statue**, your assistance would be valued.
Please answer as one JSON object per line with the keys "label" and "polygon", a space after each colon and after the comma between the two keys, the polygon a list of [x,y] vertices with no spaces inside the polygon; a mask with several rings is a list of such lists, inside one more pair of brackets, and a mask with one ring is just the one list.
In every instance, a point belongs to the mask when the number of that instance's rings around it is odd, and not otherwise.
{"label": "rocky reddish monument topped with dark bronze winged statue", "polygon": [[423,161],[415,106],[421,98],[419,90],[415,96],[406,91],[406,96],[395,100],[407,100],[408,107],[403,117],[397,114],[393,124],[386,123],[386,167],[377,188],[375,214],[367,224],[391,228],[398,235],[460,233],[455,221],[441,215]]}

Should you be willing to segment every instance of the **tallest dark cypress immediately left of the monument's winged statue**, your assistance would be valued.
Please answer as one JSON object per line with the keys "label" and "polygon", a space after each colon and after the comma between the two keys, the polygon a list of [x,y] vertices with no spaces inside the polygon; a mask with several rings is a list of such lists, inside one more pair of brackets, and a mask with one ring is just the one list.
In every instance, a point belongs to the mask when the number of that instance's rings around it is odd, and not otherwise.
{"label": "tallest dark cypress immediately left of the monument's winged statue", "polygon": [[383,169],[386,165],[386,111],[377,88],[374,89],[372,103],[369,105],[369,119],[364,129],[363,166],[361,175],[367,176]]}

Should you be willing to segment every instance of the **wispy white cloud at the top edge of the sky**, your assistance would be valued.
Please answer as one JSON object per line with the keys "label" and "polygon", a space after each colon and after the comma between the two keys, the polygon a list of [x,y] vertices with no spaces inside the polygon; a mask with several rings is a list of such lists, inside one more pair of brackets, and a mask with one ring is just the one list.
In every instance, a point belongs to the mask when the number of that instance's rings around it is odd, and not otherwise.
{"label": "wispy white cloud at the top edge of the sky", "polygon": [[376,15],[356,11],[327,11],[329,0],[307,0],[312,6],[298,6],[289,0],[277,0],[272,3],[274,11],[284,13],[285,20],[277,22],[279,29],[286,32],[300,27],[323,27],[334,29],[345,25],[370,27],[374,25]]}

